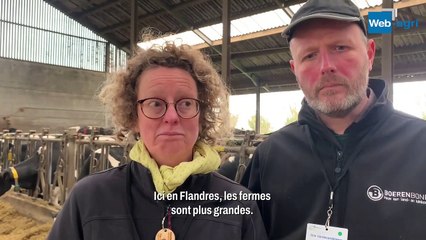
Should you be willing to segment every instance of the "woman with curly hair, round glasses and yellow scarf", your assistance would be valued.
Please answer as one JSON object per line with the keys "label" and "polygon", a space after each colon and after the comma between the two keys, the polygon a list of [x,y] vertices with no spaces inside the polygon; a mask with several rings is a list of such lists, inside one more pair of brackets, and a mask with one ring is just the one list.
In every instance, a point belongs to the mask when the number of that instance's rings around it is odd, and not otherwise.
{"label": "woman with curly hair, round glasses and yellow scarf", "polygon": [[48,239],[267,239],[253,195],[215,172],[228,94],[200,51],[139,49],[99,94],[133,161],[79,181]]}

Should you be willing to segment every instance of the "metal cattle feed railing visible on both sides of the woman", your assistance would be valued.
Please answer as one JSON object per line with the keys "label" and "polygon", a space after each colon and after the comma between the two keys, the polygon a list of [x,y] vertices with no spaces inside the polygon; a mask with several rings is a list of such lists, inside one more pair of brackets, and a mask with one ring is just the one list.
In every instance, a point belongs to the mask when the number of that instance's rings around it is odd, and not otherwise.
{"label": "metal cattle feed railing visible on both sides of the woman", "polygon": [[[241,180],[256,145],[266,137],[267,135],[256,135],[247,131],[216,146],[223,161],[229,156],[238,156],[235,181]],[[92,174],[111,168],[108,157],[112,147],[123,148],[123,159],[120,164],[129,161],[128,152],[133,143],[129,142],[123,146],[114,139],[113,136],[99,135],[97,128],[92,128],[90,134],[78,133],[74,128],[61,134],[51,134],[47,129],[43,129],[41,133],[35,131],[10,133],[4,130],[0,133],[0,168],[4,171],[11,166],[17,167],[38,154],[39,162],[38,166],[35,166],[36,188],[28,191],[28,195],[41,197],[54,205],[56,203],[62,205],[74,184],[82,178],[82,174]],[[98,152],[98,156],[95,152]],[[85,169],[87,167],[88,169]],[[22,179],[24,176],[19,177]]]}

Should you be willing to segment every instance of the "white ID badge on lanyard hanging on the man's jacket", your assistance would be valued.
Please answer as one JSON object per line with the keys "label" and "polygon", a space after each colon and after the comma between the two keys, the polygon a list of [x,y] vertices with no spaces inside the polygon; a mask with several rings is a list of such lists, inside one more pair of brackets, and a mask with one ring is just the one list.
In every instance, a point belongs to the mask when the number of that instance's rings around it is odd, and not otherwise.
{"label": "white ID badge on lanyard hanging on the man's jacket", "polygon": [[330,202],[327,210],[327,220],[324,225],[308,223],[305,240],[348,240],[348,229],[330,226],[333,214],[333,191],[330,192]]}

